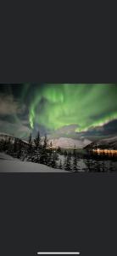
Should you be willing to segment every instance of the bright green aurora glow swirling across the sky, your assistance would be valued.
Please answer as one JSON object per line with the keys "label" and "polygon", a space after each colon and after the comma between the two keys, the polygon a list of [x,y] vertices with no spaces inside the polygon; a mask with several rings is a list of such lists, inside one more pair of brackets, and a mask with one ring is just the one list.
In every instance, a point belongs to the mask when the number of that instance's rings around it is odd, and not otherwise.
{"label": "bright green aurora glow swirling across the sky", "polygon": [[117,119],[116,84],[43,84],[32,96],[29,108],[31,129],[35,123],[57,130],[77,125],[75,131]]}

